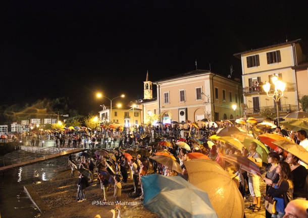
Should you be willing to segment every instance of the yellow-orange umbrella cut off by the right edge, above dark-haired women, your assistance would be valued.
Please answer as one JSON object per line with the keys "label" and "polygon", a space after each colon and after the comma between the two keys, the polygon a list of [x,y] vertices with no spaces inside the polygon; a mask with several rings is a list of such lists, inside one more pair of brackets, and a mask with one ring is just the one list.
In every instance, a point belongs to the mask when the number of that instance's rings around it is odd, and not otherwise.
{"label": "yellow-orange umbrella cut off by the right edge, above dark-haired women", "polygon": [[279,140],[273,143],[308,164],[308,151],[302,146],[286,140]]}

